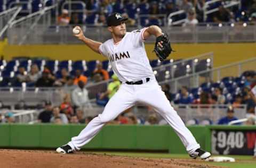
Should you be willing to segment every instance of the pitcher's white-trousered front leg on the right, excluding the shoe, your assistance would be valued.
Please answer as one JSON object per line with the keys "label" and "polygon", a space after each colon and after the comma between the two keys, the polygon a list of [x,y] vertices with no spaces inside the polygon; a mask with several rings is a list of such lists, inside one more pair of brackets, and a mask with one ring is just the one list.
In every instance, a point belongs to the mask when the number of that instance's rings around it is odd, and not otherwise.
{"label": "pitcher's white-trousered front leg on the right, excluding the shoe", "polygon": [[196,142],[195,137],[188,130],[186,125],[181,120],[180,116],[171,106],[164,92],[157,84],[151,85],[148,89],[143,88],[138,94],[138,100],[142,103],[151,105],[161,114],[164,119],[171,125],[177,135],[180,137],[187,152],[192,154],[200,145]]}

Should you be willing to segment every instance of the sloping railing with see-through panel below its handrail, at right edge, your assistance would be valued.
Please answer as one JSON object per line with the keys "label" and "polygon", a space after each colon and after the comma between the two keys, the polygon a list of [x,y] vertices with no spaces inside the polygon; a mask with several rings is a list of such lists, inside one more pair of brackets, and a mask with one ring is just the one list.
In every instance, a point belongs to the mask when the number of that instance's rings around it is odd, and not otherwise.
{"label": "sloping railing with see-through panel below its handrail, at right edge", "polygon": [[168,83],[171,87],[172,93],[177,93],[179,86],[187,86],[188,88],[199,87],[204,82],[218,82],[224,77],[234,77],[237,74],[239,77],[242,72],[247,70],[256,71],[256,58],[251,58],[249,60],[231,63],[225,66],[220,66],[218,68],[213,68],[194,74],[186,75],[183,77],[170,79],[166,81],[159,82],[160,85]]}

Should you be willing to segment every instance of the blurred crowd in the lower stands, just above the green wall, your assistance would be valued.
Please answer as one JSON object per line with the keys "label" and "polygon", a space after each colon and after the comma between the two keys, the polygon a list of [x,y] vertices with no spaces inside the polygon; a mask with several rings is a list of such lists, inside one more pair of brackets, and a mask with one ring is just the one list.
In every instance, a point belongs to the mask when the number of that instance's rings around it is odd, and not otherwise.
{"label": "blurred crowd in the lower stands, just above the green wall", "polygon": [[[33,65],[32,65],[33,66]],[[98,63],[97,68],[93,71],[92,75],[98,75],[102,80],[109,79],[107,73],[102,73],[100,71],[101,63]],[[32,68],[31,68],[32,70]],[[84,111],[84,107],[91,108],[91,102],[88,97],[88,90],[85,88],[87,78],[77,71],[74,77],[70,77],[67,71],[63,71],[63,77],[56,79],[49,70],[45,70],[41,75],[38,75],[38,79],[35,80],[37,86],[53,86],[54,83],[58,83],[57,86],[62,86],[63,91],[63,101],[58,106],[53,106],[51,102],[45,101],[43,104],[36,106],[28,106],[26,102],[20,100],[14,109],[15,110],[31,110],[37,109],[41,113],[38,115],[37,122],[42,123],[57,123],[57,124],[67,124],[67,123],[88,123],[93,119],[93,115],[88,115]],[[45,75],[45,77],[43,77]],[[256,106],[256,73],[254,71],[246,71],[244,73],[244,87],[237,92],[232,101],[227,101],[227,96],[223,93],[223,87],[215,87],[210,90],[199,90],[199,97],[194,97],[191,94],[191,90],[185,86],[182,86],[178,93],[170,92],[170,85],[162,85],[162,90],[165,93],[167,99],[175,107],[175,105],[203,105],[202,108],[214,108],[220,107],[223,104],[228,104],[227,108],[220,108],[222,111],[226,111],[227,115],[219,119],[218,123],[212,123],[212,121],[203,121],[201,124],[228,124],[230,121],[237,120],[237,117],[234,114],[235,108],[241,108],[243,105],[246,105],[246,117],[248,117],[247,124],[255,123],[255,106]],[[17,80],[26,79],[27,77],[22,78],[22,75],[17,75]],[[47,77],[47,78],[46,78]],[[47,80],[46,80],[47,79]],[[46,85],[52,81],[51,85]],[[31,81],[30,81],[31,82]],[[42,85],[42,83],[44,83]],[[117,76],[114,74],[111,76],[111,81],[107,85],[105,91],[100,91],[96,95],[96,104],[98,106],[105,106],[108,100],[116,93],[116,91],[121,86],[121,82],[118,80]],[[254,90],[254,91],[253,91]],[[10,107],[4,105],[0,102],[1,109],[10,109]],[[137,107],[139,111],[142,111],[140,106]],[[126,110],[121,115],[117,116],[114,121],[111,121],[109,124],[167,124],[165,120],[159,116],[152,107],[143,106],[144,110],[146,108],[147,115],[141,117],[135,115],[132,108]],[[43,110],[42,110],[43,109]],[[0,113],[1,114],[1,113]],[[2,115],[2,114],[1,114]],[[13,123],[15,122],[14,113],[7,111],[4,115],[0,116],[1,122]],[[186,124],[198,124],[196,119],[187,121]],[[239,124],[239,123],[238,123]]]}

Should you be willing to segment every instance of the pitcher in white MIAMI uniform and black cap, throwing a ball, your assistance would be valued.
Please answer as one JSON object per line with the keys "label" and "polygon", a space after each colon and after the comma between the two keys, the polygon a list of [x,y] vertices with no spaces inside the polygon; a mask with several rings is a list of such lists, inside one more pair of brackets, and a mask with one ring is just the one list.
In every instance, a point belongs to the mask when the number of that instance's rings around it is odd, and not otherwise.
{"label": "pitcher in white MIAMI uniform and black cap, throwing a ball", "polygon": [[[180,116],[171,106],[161,87],[158,85],[153,70],[149,64],[143,41],[154,35],[161,36],[162,30],[157,26],[150,26],[141,30],[126,32],[127,18],[119,13],[113,13],[107,18],[108,31],[112,39],[100,43],[86,38],[80,27],[78,39],[82,40],[94,52],[106,56],[111,63],[113,71],[122,82],[116,94],[111,97],[102,114],[99,114],[79,133],[71,138],[67,145],[57,148],[58,153],[73,153],[87,144],[102,127],[114,120],[119,114],[140,102],[152,106],[156,112],[177,132],[188,154],[202,159],[211,156],[209,152],[200,149],[200,145],[192,133],[186,128]],[[158,46],[163,47],[163,41]],[[157,100],[157,101],[156,101]]]}

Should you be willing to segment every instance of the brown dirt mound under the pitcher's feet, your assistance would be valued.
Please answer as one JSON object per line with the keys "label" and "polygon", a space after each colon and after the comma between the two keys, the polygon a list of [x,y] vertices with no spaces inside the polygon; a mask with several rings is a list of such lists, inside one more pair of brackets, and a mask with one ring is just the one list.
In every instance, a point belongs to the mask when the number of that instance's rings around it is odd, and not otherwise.
{"label": "brown dirt mound under the pitcher's feet", "polygon": [[92,167],[92,168],[134,168],[134,167],[173,167],[173,168],[217,168],[193,159],[163,159],[163,158],[138,158],[113,155],[87,154],[57,154],[54,151],[43,150],[0,150],[0,167],[2,168],[48,168],[48,167]]}

